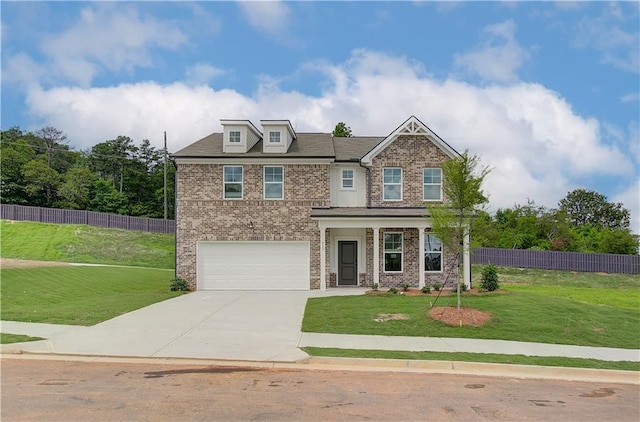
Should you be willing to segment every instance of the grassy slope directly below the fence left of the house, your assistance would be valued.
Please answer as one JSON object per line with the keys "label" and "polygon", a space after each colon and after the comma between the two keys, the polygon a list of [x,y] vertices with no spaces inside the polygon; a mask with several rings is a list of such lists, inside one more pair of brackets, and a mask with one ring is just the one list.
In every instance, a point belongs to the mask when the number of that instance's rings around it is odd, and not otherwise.
{"label": "grassy slope directly below the fence left of the house", "polygon": [[0,221],[3,258],[174,267],[174,235],[76,224]]}

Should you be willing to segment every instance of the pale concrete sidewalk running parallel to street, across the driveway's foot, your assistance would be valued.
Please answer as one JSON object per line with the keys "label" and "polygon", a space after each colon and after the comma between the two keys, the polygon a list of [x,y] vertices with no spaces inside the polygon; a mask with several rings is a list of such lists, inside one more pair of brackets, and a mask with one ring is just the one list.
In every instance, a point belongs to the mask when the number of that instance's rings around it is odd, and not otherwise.
{"label": "pale concrete sidewalk running parallel to street, across the driveway's foot", "polygon": [[[562,344],[530,343],[506,340],[483,340],[443,337],[400,337],[400,336],[366,336],[351,334],[299,333],[297,342],[289,346],[298,350],[278,354],[276,356],[255,357],[250,351],[239,350],[234,342],[222,342],[220,333],[211,342],[198,342],[192,337],[182,340],[181,346],[175,336],[169,335],[165,339],[157,334],[149,336],[149,332],[131,334],[137,341],[117,342],[102,327],[82,327],[55,324],[38,324],[27,322],[2,321],[3,333],[24,334],[33,337],[43,337],[47,340],[2,345],[2,353],[32,352],[59,353],[102,356],[129,357],[168,357],[168,358],[208,358],[234,360],[265,360],[279,362],[295,362],[307,355],[299,347],[324,347],[337,349],[362,350],[397,350],[410,352],[451,352],[451,353],[494,353],[505,355],[525,356],[557,356],[582,359],[597,359],[604,361],[640,362],[640,350],[616,349],[609,347],[573,346]],[[99,324],[100,325],[100,324]],[[122,334],[122,333],[120,333]],[[166,334],[166,333],[165,333]],[[256,343],[256,347],[269,347],[274,339],[260,338],[260,333],[245,333],[248,339]],[[271,336],[271,335],[270,335]],[[146,337],[146,340],[143,340]],[[154,337],[154,338],[150,338]],[[223,336],[224,337],[224,336]],[[192,341],[189,341],[191,338]],[[132,338],[130,340],[133,340]],[[229,338],[227,337],[227,340]],[[275,339],[286,341],[283,338]],[[87,346],[87,343],[93,347]],[[218,343],[218,346],[214,346]],[[261,346],[262,344],[262,346]],[[154,346],[155,345],[155,346]],[[169,347],[171,346],[171,347]],[[222,347],[222,349],[220,348]],[[165,350],[167,349],[168,350]]]}

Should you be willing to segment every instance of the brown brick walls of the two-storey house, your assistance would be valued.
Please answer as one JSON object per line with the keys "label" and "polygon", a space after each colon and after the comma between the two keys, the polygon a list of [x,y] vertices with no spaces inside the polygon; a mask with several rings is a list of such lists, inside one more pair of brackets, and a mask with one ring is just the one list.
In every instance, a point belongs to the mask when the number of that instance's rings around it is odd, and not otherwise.
{"label": "brown brick walls of the two-storey house", "polygon": [[[367,204],[370,207],[424,207],[423,169],[442,167],[449,157],[425,135],[399,135],[371,161],[367,171]],[[219,159],[219,158],[218,158]],[[229,159],[226,165],[232,164]],[[242,160],[247,162],[247,160]],[[320,232],[318,222],[310,215],[313,208],[328,208],[330,202],[331,164],[284,164],[284,199],[263,199],[263,171],[265,165],[256,159],[255,164],[242,164],[242,199],[223,198],[223,167],[225,164],[191,164],[177,162],[176,172],[176,273],[188,281],[191,288],[196,286],[197,242],[198,241],[308,241],[310,247],[311,289],[320,288]],[[283,158],[283,162],[287,159]],[[382,169],[402,168],[402,200],[384,201],[382,197]],[[363,227],[362,223],[358,227]],[[384,233],[403,233],[402,272],[384,271]],[[325,274],[327,287],[335,287],[337,276],[331,272],[331,229],[328,229],[325,245]],[[412,287],[419,284],[419,233],[414,227],[380,228],[379,287],[402,287],[407,283]],[[373,229],[367,228],[364,236],[365,262],[358,275],[360,286],[373,283]],[[446,252],[446,251],[445,251]],[[445,269],[442,273],[425,273],[425,282],[433,285],[443,283],[448,275],[447,285],[453,286],[458,280],[458,269],[450,268],[450,256],[444,257]],[[335,270],[334,270],[335,271]]]}

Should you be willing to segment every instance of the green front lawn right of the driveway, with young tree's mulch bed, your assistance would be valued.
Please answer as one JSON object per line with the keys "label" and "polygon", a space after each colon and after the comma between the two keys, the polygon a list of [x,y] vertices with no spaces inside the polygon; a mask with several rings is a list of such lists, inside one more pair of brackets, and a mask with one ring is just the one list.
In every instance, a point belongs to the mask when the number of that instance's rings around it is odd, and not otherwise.
{"label": "green front lawn right of the driveway, with young tree's mulch bed", "polygon": [[[302,331],[390,336],[462,337],[640,348],[640,310],[614,306],[619,299],[637,297],[634,289],[593,289],[602,303],[587,303],[524,286],[481,296],[465,295],[462,305],[488,311],[481,327],[450,327],[431,319],[431,296],[337,296],[307,301]],[[584,300],[591,295],[580,293]],[[440,297],[436,306],[456,306],[455,295]],[[404,314],[407,319],[376,322],[379,314]]]}

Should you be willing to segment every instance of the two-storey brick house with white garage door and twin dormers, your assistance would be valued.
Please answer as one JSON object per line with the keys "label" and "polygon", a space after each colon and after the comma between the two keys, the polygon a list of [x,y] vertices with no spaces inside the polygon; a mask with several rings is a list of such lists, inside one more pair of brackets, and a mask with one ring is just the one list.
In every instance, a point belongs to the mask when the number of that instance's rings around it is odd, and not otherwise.
{"label": "two-storey brick house with white garage door and twin dormers", "polygon": [[458,153],[416,117],[379,137],[297,133],[288,120],[221,124],[173,154],[176,275],[191,288],[457,280],[425,202],[443,200],[441,165]]}

